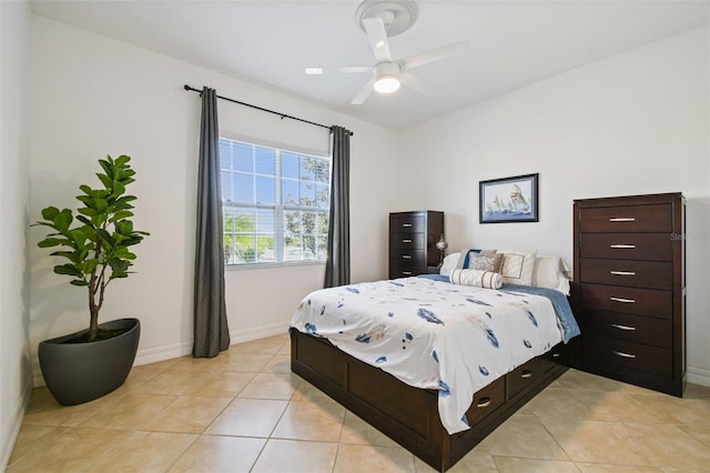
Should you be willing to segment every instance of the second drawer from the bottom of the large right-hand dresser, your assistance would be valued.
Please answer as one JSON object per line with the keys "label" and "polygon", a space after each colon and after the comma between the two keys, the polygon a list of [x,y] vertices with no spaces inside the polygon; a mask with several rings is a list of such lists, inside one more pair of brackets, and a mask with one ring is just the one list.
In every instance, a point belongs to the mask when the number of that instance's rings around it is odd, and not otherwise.
{"label": "second drawer from the bottom of the large right-hand dresser", "polygon": [[580,318],[585,334],[626,340],[647,345],[670,349],[672,346],[672,323],[668,319],[586,310]]}

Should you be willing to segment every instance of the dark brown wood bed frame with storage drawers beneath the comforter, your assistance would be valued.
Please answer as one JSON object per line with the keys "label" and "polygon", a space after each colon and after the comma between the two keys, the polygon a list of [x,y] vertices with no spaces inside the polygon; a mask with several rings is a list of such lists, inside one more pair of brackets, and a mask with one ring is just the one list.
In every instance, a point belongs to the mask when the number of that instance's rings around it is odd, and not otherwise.
{"label": "dark brown wood bed frame with storage drawers beneath the comforter", "polygon": [[567,371],[560,343],[478,391],[466,412],[471,429],[449,435],[439,419],[436,390],[412,388],[327,340],[293,328],[290,333],[294,373],[440,472]]}

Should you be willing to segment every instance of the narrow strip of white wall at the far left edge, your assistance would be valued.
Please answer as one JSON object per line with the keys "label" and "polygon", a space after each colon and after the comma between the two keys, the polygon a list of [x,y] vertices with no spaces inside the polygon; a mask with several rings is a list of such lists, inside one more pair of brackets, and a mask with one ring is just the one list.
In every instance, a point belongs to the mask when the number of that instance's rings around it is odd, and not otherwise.
{"label": "narrow strip of white wall at the far left edge", "polygon": [[0,2],[0,467],[10,459],[32,389],[26,263],[30,18],[27,2]]}

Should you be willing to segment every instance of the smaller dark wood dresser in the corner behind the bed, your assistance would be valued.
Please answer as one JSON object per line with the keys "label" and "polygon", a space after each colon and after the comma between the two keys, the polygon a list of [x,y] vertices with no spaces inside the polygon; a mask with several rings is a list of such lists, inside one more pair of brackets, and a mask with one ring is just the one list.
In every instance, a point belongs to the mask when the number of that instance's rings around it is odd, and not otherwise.
{"label": "smaller dark wood dresser in the corner behind the bed", "polygon": [[389,279],[425,274],[439,263],[436,242],[444,234],[444,212],[389,214]]}

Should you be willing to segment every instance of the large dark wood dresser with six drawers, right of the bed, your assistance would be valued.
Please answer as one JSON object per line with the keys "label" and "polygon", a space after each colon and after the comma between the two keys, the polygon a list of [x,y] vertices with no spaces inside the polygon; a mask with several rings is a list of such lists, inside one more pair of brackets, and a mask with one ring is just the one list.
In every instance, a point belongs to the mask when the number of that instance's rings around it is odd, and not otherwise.
{"label": "large dark wood dresser with six drawers, right of the bed", "polygon": [[575,200],[581,370],[682,396],[686,202],[681,193]]}

